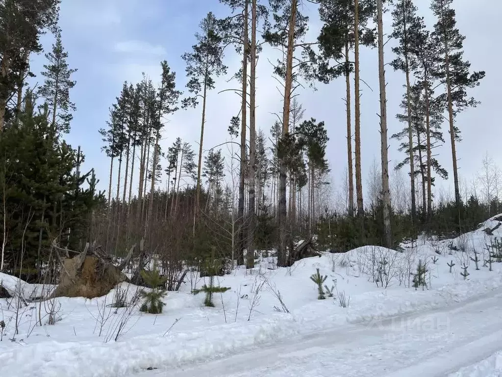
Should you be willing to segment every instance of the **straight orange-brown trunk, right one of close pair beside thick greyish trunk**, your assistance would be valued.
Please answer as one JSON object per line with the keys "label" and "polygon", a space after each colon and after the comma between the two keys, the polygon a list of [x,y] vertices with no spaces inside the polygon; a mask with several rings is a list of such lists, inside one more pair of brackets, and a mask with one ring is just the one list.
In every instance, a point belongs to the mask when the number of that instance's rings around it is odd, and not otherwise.
{"label": "straight orange-brown trunk, right one of close pair beside thick greyish trunk", "polygon": [[357,215],[364,215],[361,173],[361,106],[359,92],[359,0],[354,0],[354,106],[355,106],[355,189]]}

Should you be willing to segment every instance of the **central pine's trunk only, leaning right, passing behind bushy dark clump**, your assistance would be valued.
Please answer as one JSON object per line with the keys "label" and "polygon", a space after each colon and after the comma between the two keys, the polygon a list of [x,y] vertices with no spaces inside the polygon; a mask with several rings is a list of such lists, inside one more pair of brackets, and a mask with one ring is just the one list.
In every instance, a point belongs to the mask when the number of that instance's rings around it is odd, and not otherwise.
{"label": "central pine's trunk only, leaning right, passing behind bushy dark clump", "polygon": [[[297,14],[298,0],[292,0],[291,2],[291,15],[289,19],[288,27],[288,47],[286,53],[286,75],[284,82],[284,106],[283,106],[283,124],[282,124],[282,140],[283,142],[285,136],[289,131],[289,117],[291,108],[291,89],[293,86],[293,52],[295,43],[295,25],[296,25],[296,14]],[[279,158],[279,205],[277,209],[278,213],[278,225],[279,225],[279,249],[277,255],[277,265],[279,267],[285,267],[288,263],[286,245],[288,243],[288,226],[287,226],[287,207],[286,207],[286,180],[287,180],[287,169],[286,169],[286,156],[280,156]]]}

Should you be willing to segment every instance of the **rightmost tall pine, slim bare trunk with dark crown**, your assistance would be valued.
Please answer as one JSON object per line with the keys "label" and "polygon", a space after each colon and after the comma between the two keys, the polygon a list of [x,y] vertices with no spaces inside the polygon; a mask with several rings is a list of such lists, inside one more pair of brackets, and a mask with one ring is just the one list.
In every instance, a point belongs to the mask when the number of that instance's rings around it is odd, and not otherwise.
{"label": "rightmost tall pine, slim bare trunk with dark crown", "polygon": [[469,71],[470,63],[464,59],[462,50],[465,37],[456,27],[452,3],[453,0],[432,0],[431,9],[437,18],[432,36],[440,52],[440,64],[436,75],[446,86],[446,92],[440,97],[440,101],[448,110],[455,204],[457,208],[460,208],[460,185],[455,146],[456,136],[460,131],[455,127],[455,116],[467,107],[474,107],[479,103],[474,98],[468,97],[467,89],[479,85],[485,72],[470,73]]}

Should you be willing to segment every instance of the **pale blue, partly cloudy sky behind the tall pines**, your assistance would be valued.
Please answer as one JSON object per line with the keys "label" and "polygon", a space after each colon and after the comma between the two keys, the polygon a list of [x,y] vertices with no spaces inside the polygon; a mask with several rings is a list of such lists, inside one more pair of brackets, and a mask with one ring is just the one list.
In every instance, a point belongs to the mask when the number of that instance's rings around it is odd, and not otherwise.
{"label": "pale blue, partly cloudy sky behind the tall pines", "polygon": [[[428,0],[416,0],[421,14],[429,28],[434,18],[428,7]],[[457,26],[467,38],[464,42],[465,57],[471,62],[472,70],[485,70],[486,77],[481,85],[471,91],[479,101],[475,109],[468,109],[457,119],[463,141],[457,144],[459,174],[470,181],[480,170],[481,161],[488,153],[502,166],[502,127],[497,114],[499,108],[499,85],[502,73],[499,69],[498,15],[502,12],[502,2],[494,0],[454,0],[457,12]],[[486,10],[489,9],[489,12]],[[179,89],[185,90],[187,82],[185,65],[181,55],[191,50],[195,43],[194,33],[198,31],[200,20],[212,11],[223,17],[228,9],[218,0],[63,0],[60,13],[62,40],[69,53],[70,67],[77,68],[73,79],[71,100],[77,111],[71,124],[71,132],[66,140],[74,148],[78,145],[86,156],[84,168],[94,168],[100,179],[99,189],[108,185],[109,158],[101,152],[102,142],[98,133],[108,119],[108,108],[119,95],[124,81],[136,83],[142,72],[154,82],[160,78],[160,62],[167,60],[177,73]],[[310,30],[306,40],[314,40],[320,29],[320,21],[315,5],[304,6],[302,12],[311,16]],[[384,18],[384,30],[392,32],[390,14]],[[42,43],[46,50],[52,44],[52,37],[45,35]],[[386,45],[386,63],[394,57],[392,41]],[[277,81],[272,76],[272,64],[277,53],[266,47],[261,54],[257,68],[257,127],[268,132],[277,119],[274,113],[282,109],[282,96]],[[368,175],[373,162],[380,161],[380,124],[378,56],[376,49],[363,48],[361,51],[360,74],[367,85],[361,85],[361,149],[363,179]],[[228,49],[225,64],[228,76],[216,80],[216,89],[209,92],[204,135],[204,150],[229,141],[227,133],[229,120],[238,114],[239,96],[231,90],[238,88],[238,82],[229,81],[230,75],[239,68],[240,58],[233,49]],[[43,54],[32,56],[31,68],[37,74],[34,82],[41,82],[38,74],[45,63]],[[400,131],[403,125],[395,119],[400,111],[403,95],[404,74],[386,67],[388,98],[389,136]],[[340,185],[346,168],[346,118],[345,80],[340,78],[329,84],[316,83],[317,90],[308,85],[300,89],[298,100],[303,104],[305,118],[324,121],[330,138],[327,159],[331,168],[334,185]],[[352,89],[353,90],[353,89]],[[352,108],[353,111],[353,108]],[[352,117],[353,119],[353,117]],[[200,137],[201,108],[179,110],[166,120],[161,145],[164,150],[181,137],[198,149]],[[447,124],[444,125],[447,143],[435,149],[437,158],[451,174],[451,148],[448,143]],[[398,151],[399,142],[390,140],[389,159],[391,168],[404,157]],[[223,146],[228,152],[228,146]],[[229,158],[227,158],[227,162]],[[115,174],[116,175],[116,174]],[[392,173],[391,173],[392,177]],[[440,178],[438,178],[440,179]],[[135,177],[135,185],[138,178]],[[164,183],[165,184],[165,180]],[[438,189],[451,190],[453,179],[438,181]],[[116,189],[114,189],[116,190]]]}

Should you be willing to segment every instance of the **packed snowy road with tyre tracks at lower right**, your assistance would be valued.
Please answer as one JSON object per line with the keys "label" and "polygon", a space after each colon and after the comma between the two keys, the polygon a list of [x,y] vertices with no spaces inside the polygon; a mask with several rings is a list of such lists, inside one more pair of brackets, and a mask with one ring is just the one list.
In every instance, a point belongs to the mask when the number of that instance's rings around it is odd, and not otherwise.
{"label": "packed snowy road with tyre tracks at lower right", "polygon": [[[428,311],[347,325],[146,376],[444,376],[502,349],[502,290]],[[494,374],[498,375],[498,374]]]}

